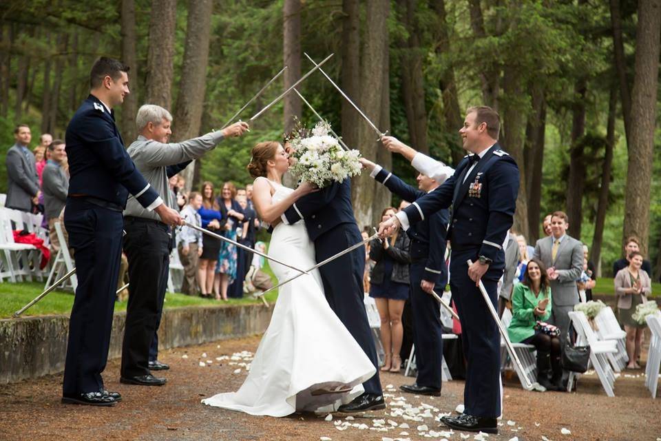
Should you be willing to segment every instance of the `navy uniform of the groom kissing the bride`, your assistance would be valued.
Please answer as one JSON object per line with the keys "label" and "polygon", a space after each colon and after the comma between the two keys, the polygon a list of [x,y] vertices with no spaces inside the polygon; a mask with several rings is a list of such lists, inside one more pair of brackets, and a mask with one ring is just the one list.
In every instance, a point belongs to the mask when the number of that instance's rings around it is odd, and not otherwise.
{"label": "navy uniform of the groom kissing the bride", "polygon": [[[305,221],[315,243],[317,262],[362,241],[351,207],[351,181],[332,183],[319,192],[307,194],[284,212],[287,223]],[[365,249],[359,247],[319,268],[328,305],[377,369],[363,383],[366,393],[381,395],[377,351],[364,303],[363,274]]]}

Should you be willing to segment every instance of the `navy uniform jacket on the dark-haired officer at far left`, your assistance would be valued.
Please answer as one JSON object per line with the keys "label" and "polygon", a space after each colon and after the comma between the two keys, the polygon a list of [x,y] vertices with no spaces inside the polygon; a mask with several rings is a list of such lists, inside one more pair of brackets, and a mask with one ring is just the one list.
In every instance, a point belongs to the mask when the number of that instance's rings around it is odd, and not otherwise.
{"label": "navy uniform jacket on the dark-haired officer at far left", "polygon": [[120,211],[129,193],[147,209],[162,204],[124,148],[114,114],[96,96],[87,96],[67,127],[69,196],[91,196]]}

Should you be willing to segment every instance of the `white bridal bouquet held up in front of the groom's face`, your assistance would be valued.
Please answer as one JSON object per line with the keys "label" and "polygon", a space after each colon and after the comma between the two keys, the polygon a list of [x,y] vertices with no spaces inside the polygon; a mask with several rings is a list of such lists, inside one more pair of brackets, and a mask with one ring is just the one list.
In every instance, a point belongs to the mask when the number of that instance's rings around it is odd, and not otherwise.
{"label": "white bridal bouquet held up in front of the groom's face", "polygon": [[300,181],[323,188],[333,181],[342,182],[360,174],[360,152],[344,150],[329,133],[330,125],[324,121],[317,123],[308,136],[304,130],[298,130],[297,136],[290,140],[295,164],[289,171]]}

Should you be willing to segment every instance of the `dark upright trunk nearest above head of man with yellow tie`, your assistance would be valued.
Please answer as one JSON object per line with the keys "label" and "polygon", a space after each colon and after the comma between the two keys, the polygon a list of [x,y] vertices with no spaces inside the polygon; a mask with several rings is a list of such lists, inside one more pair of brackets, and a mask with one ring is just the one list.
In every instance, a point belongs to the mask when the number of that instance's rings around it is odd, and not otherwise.
{"label": "dark upright trunk nearest above head of man with yellow tie", "polygon": [[569,151],[569,178],[567,178],[567,216],[569,234],[580,240],[580,226],[583,220],[583,189],[585,187],[585,96],[587,79],[578,79],[574,87],[572,104],[571,148]]}

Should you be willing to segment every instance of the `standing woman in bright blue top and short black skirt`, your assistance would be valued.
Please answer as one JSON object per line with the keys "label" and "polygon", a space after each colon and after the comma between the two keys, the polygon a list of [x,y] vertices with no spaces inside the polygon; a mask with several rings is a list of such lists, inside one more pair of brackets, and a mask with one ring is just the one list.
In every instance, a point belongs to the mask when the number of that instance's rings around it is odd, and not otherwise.
{"label": "standing woman in bright blue top and short black skirt", "polygon": [[[227,217],[220,214],[220,205],[213,196],[213,184],[209,181],[202,183],[202,207],[198,209],[202,219],[202,228],[210,232],[222,234],[227,222]],[[216,274],[216,263],[222,240],[211,237],[209,234],[202,235],[202,254],[200,255],[200,267],[198,269],[198,280],[200,280],[200,296],[211,298],[213,295],[213,276]]]}

